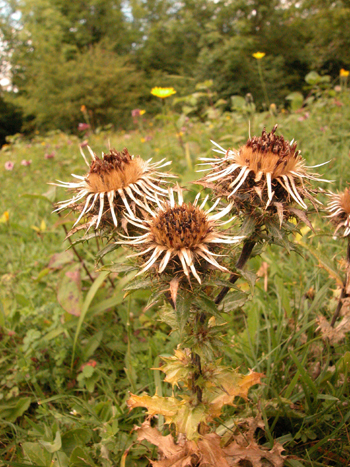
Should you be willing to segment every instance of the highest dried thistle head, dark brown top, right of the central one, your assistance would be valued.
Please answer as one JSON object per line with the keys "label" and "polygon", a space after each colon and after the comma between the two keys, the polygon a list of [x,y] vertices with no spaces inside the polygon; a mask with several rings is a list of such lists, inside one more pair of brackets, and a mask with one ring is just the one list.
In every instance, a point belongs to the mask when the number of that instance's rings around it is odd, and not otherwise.
{"label": "highest dried thistle head, dark brown top, right of the central one", "polygon": [[213,188],[214,191],[232,198],[237,205],[249,202],[268,208],[272,200],[289,204],[292,198],[299,206],[307,209],[304,198],[315,206],[319,203],[305,187],[305,181],[328,182],[318,174],[308,171],[305,160],[298,151],[297,144],[290,143],[284,137],[277,136],[277,125],[270,133],[264,129],[262,135],[248,138],[239,150],[225,150],[217,143],[215,152],[223,154],[222,159],[205,158],[205,164],[211,165],[210,172],[197,183]]}

